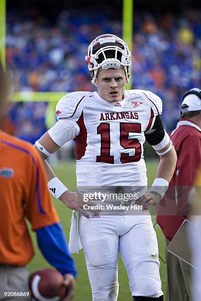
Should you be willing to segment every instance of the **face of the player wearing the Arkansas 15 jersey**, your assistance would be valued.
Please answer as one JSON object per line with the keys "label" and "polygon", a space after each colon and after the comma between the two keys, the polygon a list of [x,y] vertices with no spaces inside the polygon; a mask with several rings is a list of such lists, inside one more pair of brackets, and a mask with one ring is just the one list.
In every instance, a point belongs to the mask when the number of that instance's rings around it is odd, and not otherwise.
{"label": "face of the player wearing the Arkansas 15 jersey", "polygon": [[122,100],[125,84],[126,74],[123,68],[107,70],[100,68],[95,80],[95,86],[98,87],[100,97],[108,102]]}

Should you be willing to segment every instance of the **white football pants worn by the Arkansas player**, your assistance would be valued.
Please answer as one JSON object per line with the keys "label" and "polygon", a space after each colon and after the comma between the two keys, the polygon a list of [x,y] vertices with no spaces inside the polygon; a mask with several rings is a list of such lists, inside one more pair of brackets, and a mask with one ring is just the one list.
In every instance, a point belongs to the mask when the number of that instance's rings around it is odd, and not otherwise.
{"label": "white football pants worn by the Arkansas player", "polygon": [[150,215],[100,215],[79,219],[93,301],[116,301],[118,252],[129,276],[132,296],[163,295],[158,243]]}

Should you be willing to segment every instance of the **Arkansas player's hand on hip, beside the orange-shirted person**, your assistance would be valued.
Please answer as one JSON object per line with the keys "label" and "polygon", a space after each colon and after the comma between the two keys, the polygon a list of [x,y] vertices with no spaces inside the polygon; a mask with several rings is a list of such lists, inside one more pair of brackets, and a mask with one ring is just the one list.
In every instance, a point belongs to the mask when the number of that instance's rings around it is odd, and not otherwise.
{"label": "Arkansas player's hand on hip, beside the orange-shirted person", "polygon": [[66,191],[60,196],[59,199],[67,206],[67,208],[76,210],[87,218],[89,218],[89,214],[83,208],[84,205],[87,205],[88,210],[92,211],[93,214],[99,214],[98,210],[90,208],[91,206],[95,206],[95,204],[89,201],[84,202],[83,195],[79,194],[78,192]]}

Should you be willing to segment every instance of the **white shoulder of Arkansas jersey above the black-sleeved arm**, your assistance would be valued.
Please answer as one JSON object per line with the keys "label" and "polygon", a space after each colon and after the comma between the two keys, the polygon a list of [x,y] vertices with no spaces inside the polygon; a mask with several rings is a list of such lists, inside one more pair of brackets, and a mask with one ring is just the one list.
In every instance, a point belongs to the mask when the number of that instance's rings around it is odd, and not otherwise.
{"label": "white shoulder of Arkansas jersey above the black-sleeved arm", "polygon": [[154,116],[161,115],[163,111],[163,103],[161,98],[151,91],[147,90],[128,90],[129,94],[140,93],[143,99],[150,105],[154,111]]}

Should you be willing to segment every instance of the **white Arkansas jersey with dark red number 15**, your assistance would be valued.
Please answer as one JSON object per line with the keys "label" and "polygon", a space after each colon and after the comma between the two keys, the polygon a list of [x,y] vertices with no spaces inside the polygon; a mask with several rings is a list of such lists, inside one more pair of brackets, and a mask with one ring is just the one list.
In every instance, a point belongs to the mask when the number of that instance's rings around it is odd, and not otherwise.
{"label": "white Arkansas jersey with dark red number 15", "polygon": [[58,102],[48,133],[59,146],[74,139],[77,186],[146,186],[144,133],[161,113],[161,98],[146,90],[125,90],[115,103],[73,92]]}

